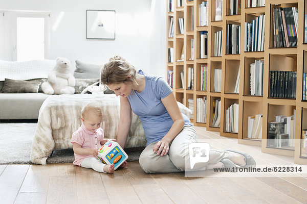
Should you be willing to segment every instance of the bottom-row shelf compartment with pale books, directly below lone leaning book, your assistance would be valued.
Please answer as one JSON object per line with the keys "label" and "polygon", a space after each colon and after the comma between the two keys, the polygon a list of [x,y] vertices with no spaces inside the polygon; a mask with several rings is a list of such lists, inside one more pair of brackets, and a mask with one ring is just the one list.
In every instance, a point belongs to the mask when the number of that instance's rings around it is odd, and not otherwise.
{"label": "bottom-row shelf compartment with pale books, directly below lone leaning book", "polygon": [[[235,105],[231,110],[230,107]],[[233,98],[224,99],[224,132],[225,133],[238,133],[239,127],[239,100]],[[227,110],[229,109],[229,115],[227,116]]]}

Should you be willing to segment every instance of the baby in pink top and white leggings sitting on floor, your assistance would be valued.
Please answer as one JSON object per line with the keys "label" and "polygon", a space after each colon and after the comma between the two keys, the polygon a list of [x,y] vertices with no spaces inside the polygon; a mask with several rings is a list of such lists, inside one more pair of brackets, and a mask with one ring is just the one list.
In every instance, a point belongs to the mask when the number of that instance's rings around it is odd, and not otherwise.
{"label": "baby in pink top and white leggings sitting on floor", "polygon": [[[102,110],[97,103],[89,103],[81,111],[82,125],[73,133],[71,142],[75,152],[74,164],[92,168],[98,172],[114,173],[114,164],[103,164],[98,158],[98,149],[108,139],[103,138],[103,130],[100,128]],[[125,167],[127,162],[121,167]]]}

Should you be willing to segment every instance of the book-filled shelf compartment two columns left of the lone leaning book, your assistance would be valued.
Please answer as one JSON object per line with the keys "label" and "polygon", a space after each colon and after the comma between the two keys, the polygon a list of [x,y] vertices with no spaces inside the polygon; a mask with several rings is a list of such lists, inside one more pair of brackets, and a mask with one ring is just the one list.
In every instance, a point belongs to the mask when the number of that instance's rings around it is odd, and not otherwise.
{"label": "book-filled shelf compartment two columns left of the lone leaning book", "polygon": [[207,91],[208,90],[208,64],[197,63],[196,64],[196,90]]}

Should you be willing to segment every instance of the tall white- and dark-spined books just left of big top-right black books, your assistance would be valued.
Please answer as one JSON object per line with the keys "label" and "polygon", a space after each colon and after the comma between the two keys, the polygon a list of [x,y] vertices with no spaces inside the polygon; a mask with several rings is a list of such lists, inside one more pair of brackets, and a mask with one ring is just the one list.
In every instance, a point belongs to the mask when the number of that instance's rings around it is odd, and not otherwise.
{"label": "tall white- and dark-spined books just left of big top-right black books", "polygon": [[245,22],[245,52],[265,50],[265,17],[260,15],[252,23]]}

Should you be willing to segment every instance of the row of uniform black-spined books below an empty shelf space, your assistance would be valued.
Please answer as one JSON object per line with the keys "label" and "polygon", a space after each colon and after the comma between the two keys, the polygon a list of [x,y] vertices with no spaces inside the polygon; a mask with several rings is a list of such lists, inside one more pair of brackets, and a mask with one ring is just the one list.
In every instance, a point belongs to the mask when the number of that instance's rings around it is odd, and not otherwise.
{"label": "row of uniform black-spined books below an empty shelf space", "polygon": [[296,71],[270,71],[270,97],[296,98]]}

